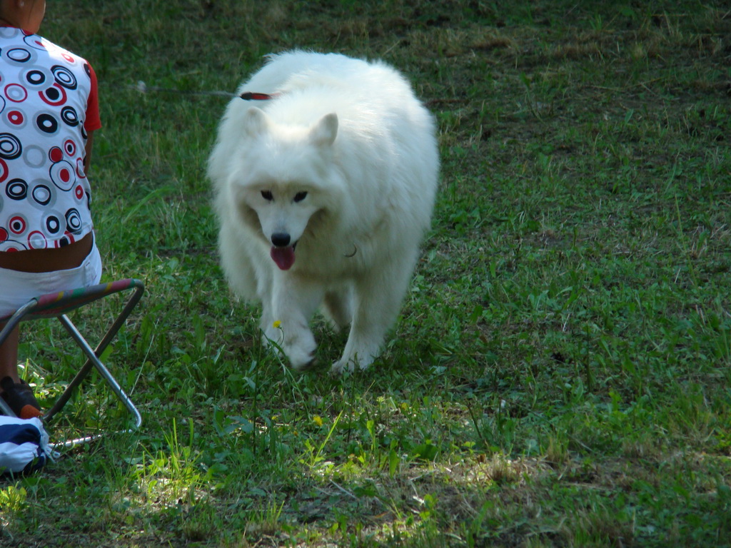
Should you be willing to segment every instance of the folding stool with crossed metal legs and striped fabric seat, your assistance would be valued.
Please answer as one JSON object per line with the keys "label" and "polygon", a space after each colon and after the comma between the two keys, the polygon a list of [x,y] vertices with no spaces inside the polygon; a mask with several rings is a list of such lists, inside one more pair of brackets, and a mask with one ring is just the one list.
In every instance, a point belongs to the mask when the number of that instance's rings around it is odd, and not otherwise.
{"label": "folding stool with crossed metal legs and striped fabric seat", "polygon": [[[107,333],[99,342],[99,345],[96,346],[96,349],[91,349],[91,346],[89,346],[86,342],[86,339],[84,339],[80,332],[76,329],[76,326],[72,324],[67,313],[77,308],[81,308],[84,305],[88,305],[96,300],[127,290],[132,291],[132,294],[126,300],[126,304],[124,305],[121,313],[119,313],[116,317],[112,326],[109,330],[107,330]],[[0,344],[4,342],[20,321],[58,318],[61,321],[61,324],[63,324],[66,328],[67,332],[69,332],[69,335],[71,335],[71,337],[76,341],[83,353],[86,354],[86,363],[79,372],[76,373],[76,376],[69,383],[69,386],[64,390],[64,392],[58,397],[58,400],[56,400],[56,403],[53,404],[53,407],[51,407],[50,410],[42,416],[42,420],[44,422],[50,421],[50,419],[52,419],[53,416],[56,415],[56,413],[58,413],[64,405],[66,405],[73,390],[81,384],[81,381],[86,378],[92,368],[96,368],[102,378],[107,381],[112,392],[116,395],[116,397],[118,397],[121,403],[124,404],[127,411],[129,411],[129,413],[134,417],[135,428],[140,427],[142,424],[142,416],[140,416],[140,412],[137,411],[135,404],[132,403],[129,396],[127,396],[124,390],[121,389],[119,383],[99,360],[99,357],[102,356],[102,353],[105,351],[107,346],[109,346],[109,343],[111,343],[113,338],[115,338],[117,332],[124,324],[124,321],[126,321],[127,316],[129,316],[129,313],[131,313],[132,309],[137,306],[137,302],[139,302],[142,298],[144,290],[144,284],[134,278],[127,278],[125,280],[118,280],[110,283],[99,283],[99,285],[96,286],[82,287],[80,289],[72,289],[70,291],[57,293],[48,293],[39,297],[34,297],[18,308],[18,310],[15,311],[15,313],[12,313],[12,315],[0,318],[0,324],[7,321],[3,330],[0,331]],[[10,407],[7,406],[7,403],[5,403],[5,400],[1,397],[0,413],[15,416],[15,414],[13,414],[10,410]]]}

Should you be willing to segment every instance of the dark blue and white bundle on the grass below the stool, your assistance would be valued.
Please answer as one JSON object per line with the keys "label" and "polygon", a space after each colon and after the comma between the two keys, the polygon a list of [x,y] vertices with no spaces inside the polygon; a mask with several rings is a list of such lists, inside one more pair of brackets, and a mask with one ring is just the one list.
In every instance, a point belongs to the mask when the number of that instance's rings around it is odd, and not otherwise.
{"label": "dark blue and white bundle on the grass below the stool", "polygon": [[52,460],[40,419],[0,415],[0,474],[35,472]]}

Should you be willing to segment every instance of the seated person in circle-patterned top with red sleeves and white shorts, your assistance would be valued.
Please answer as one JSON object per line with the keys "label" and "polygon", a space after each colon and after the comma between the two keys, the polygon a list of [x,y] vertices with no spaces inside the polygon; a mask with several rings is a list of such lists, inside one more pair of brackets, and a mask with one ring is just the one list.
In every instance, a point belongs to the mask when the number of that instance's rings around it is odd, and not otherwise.
{"label": "seated person in circle-patterned top with red sleeves and white shorts", "polygon": [[[45,0],[0,0],[0,317],[102,273],[86,178],[96,75],[35,34],[44,15]],[[18,377],[18,340],[16,327],[0,346],[0,396],[27,419],[41,411]]]}

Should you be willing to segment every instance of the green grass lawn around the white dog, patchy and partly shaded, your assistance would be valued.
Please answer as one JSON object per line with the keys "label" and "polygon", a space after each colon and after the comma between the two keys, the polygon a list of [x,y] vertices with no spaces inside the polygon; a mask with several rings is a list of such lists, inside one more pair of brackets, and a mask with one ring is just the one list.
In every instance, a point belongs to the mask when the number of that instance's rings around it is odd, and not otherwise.
{"label": "green grass lawn around the white dog, patchy and partly shaded", "polygon": [[[731,13],[720,1],[49,5],[101,82],[108,362],[141,430],[0,483],[10,547],[731,546]],[[205,160],[269,51],[383,58],[439,123],[433,228],[387,349],[327,376],[258,342]],[[83,313],[99,330],[110,308]],[[53,342],[53,346],[49,344]],[[23,343],[42,397],[78,358]],[[124,424],[95,384],[56,439]]]}

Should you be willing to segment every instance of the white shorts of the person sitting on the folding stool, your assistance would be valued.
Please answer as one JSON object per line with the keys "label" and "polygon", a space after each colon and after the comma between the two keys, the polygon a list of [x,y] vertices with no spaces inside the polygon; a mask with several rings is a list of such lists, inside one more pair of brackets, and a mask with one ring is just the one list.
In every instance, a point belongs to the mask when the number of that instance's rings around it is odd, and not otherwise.
{"label": "white shorts of the person sitting on the folding stool", "polygon": [[10,316],[33,297],[94,286],[101,278],[102,256],[96,239],[86,259],[76,268],[38,273],[0,268],[0,318]]}

